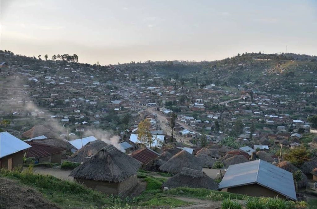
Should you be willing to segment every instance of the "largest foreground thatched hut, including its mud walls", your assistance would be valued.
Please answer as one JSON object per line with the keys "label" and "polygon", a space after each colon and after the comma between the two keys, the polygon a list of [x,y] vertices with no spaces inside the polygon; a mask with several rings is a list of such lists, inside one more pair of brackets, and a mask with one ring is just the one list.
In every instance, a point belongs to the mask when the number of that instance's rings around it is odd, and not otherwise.
{"label": "largest foreground thatched hut, including its mud walls", "polygon": [[141,163],[113,145],[102,148],[88,161],[76,167],[74,181],[109,195],[126,196],[138,183]]}

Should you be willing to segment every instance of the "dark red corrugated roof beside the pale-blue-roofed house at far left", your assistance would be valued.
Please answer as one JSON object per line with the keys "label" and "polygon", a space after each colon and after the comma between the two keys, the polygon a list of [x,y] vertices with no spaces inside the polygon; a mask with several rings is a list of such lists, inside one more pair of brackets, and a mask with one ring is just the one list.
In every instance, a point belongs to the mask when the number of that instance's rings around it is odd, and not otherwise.
{"label": "dark red corrugated roof beside the pale-blue-roofed house at far left", "polygon": [[33,157],[33,158],[41,158],[45,156],[49,156],[55,153],[59,153],[63,150],[64,148],[59,148],[59,147],[53,147],[45,144],[40,144],[32,141],[28,141],[27,144],[31,145],[32,147],[29,148],[27,157]]}

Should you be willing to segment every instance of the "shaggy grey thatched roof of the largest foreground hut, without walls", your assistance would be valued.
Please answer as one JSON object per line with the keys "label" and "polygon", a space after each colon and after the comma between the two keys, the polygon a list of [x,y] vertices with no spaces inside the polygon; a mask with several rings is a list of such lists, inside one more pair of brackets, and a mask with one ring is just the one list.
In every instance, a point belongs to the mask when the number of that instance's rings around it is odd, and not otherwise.
{"label": "shaggy grey thatched roof of the largest foreground hut, without walls", "polygon": [[107,145],[90,160],[76,167],[69,176],[96,181],[122,182],[135,175],[141,166],[138,160]]}

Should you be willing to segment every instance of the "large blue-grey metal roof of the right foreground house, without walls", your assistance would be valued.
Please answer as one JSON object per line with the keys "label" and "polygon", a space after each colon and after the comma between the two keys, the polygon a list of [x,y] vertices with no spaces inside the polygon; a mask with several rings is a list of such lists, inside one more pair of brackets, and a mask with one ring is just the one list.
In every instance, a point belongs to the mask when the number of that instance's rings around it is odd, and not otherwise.
{"label": "large blue-grey metal roof of the right foreground house, without walls", "polygon": [[296,200],[292,173],[263,160],[229,166],[218,189],[259,184],[289,199]]}

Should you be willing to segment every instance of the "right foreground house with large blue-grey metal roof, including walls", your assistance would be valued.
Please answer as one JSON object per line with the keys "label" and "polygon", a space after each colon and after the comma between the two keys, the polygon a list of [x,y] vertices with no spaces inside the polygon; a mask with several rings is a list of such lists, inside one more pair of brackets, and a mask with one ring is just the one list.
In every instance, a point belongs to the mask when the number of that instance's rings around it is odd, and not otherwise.
{"label": "right foreground house with large blue-grey metal roof, including walls", "polygon": [[221,189],[253,197],[296,200],[292,173],[263,160],[230,166],[218,186]]}

